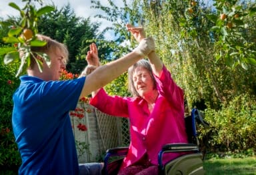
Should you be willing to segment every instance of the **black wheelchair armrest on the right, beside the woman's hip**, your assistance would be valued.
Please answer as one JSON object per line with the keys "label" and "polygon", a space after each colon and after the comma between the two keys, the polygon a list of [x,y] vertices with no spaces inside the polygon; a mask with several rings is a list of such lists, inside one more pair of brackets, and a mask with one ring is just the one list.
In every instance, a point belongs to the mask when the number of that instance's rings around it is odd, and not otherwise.
{"label": "black wheelchair armrest on the right, beside the woman's hip", "polygon": [[199,150],[198,146],[192,143],[165,144],[162,147],[163,152],[187,152],[187,151],[198,151],[198,150]]}

